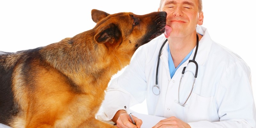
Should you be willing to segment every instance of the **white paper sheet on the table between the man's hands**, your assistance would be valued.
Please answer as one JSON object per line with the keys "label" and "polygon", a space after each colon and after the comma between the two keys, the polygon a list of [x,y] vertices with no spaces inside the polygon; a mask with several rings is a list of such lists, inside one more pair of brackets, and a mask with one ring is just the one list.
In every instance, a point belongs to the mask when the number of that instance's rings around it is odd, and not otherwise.
{"label": "white paper sheet on the table between the man's hands", "polygon": [[133,112],[132,115],[136,116],[137,118],[142,120],[141,128],[152,128],[160,120],[165,119],[165,117],[140,114],[140,113],[136,113],[136,112]]}

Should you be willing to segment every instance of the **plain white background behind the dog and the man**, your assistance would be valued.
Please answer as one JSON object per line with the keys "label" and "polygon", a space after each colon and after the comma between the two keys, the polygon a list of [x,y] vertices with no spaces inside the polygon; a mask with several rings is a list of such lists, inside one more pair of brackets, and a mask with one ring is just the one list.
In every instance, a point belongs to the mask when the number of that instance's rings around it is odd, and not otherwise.
{"label": "plain white background behind the dog and the man", "polygon": [[[0,51],[16,52],[59,42],[92,29],[91,10],[110,14],[157,11],[160,0],[1,0]],[[203,0],[204,23],[212,39],[240,55],[252,71],[256,99],[255,0]],[[216,68],[218,65],[216,65]],[[147,113],[142,105],[135,110]]]}

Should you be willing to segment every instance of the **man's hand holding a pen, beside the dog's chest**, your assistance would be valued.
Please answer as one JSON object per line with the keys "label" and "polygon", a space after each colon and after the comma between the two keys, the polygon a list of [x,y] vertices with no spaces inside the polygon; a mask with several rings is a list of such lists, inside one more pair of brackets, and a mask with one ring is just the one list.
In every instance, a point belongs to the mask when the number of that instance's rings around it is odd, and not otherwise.
{"label": "man's hand holding a pen, beside the dog's chest", "polygon": [[132,116],[132,118],[136,125],[132,124],[132,119],[125,110],[119,110],[116,112],[116,115],[113,117],[112,120],[116,122],[116,126],[118,128],[140,128],[142,120],[135,116]]}

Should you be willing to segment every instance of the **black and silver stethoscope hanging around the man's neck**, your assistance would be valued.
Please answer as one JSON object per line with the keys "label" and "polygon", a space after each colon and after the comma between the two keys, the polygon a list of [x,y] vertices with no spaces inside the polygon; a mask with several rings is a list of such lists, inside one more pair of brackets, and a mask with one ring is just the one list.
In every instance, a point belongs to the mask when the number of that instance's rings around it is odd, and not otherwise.
{"label": "black and silver stethoscope hanging around the man's neck", "polygon": [[[158,86],[158,68],[159,68],[159,62],[160,62],[160,55],[161,55],[161,52],[162,52],[162,50],[163,50],[164,44],[165,44],[166,42],[167,42],[167,39],[166,39],[166,40],[164,41],[164,43],[162,44],[161,49],[160,49],[160,51],[159,51],[159,55],[158,55],[157,67],[156,67],[156,85],[154,85],[153,88],[152,88],[152,91],[153,91],[153,93],[154,93],[155,95],[159,95],[159,94],[160,94],[160,88],[159,88],[159,86]],[[190,62],[195,63],[195,65],[196,65],[196,73],[195,73],[194,83],[193,83],[191,92],[190,92],[189,95],[188,95],[188,98],[190,97],[190,95],[191,95],[191,93],[192,93],[192,91],[193,91],[193,89],[194,89],[195,81],[196,81],[196,77],[197,77],[198,65],[197,65],[197,62],[195,61],[195,59],[196,59],[196,53],[197,53],[197,50],[198,50],[198,44],[199,44],[199,37],[198,37],[198,35],[196,34],[196,51],[195,51],[193,60],[189,60],[189,61],[188,61],[188,63],[190,63]],[[185,69],[186,69],[186,67],[184,67],[183,70],[182,70],[182,75],[181,75],[181,78],[180,78],[180,84],[181,84],[182,77],[183,77],[183,75],[184,75],[184,73],[185,73]],[[188,101],[188,98],[187,98],[187,100],[186,100],[183,104],[180,103],[180,84],[179,84],[179,92],[178,92],[178,95],[179,95],[179,96],[178,96],[178,99],[179,99],[178,104],[180,104],[181,106],[184,106],[184,105],[186,104],[186,102]]]}

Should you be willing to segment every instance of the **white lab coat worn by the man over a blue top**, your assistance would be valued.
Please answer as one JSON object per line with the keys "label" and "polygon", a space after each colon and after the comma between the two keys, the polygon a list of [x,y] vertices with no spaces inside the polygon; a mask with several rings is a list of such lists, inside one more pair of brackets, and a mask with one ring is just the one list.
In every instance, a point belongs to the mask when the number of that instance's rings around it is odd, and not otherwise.
{"label": "white lab coat worn by the man over a blue top", "polygon": [[[196,31],[203,35],[196,55],[198,75],[184,107],[177,103],[180,77],[188,60],[193,59],[195,49],[171,79],[168,43],[164,45],[158,74],[161,93],[155,95],[152,87],[156,84],[157,59],[166,39],[160,36],[141,46],[123,74],[111,81],[102,104],[105,120],[111,120],[124,106],[129,108],[146,98],[149,115],[176,116],[191,128],[255,128],[250,68],[237,54],[212,41],[206,28],[198,26]],[[195,67],[189,63],[187,70],[195,72]],[[185,102],[193,81],[194,75],[187,72],[182,79],[186,87],[181,86],[181,103]]]}

